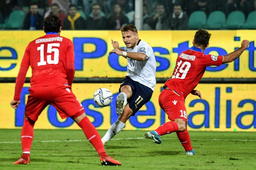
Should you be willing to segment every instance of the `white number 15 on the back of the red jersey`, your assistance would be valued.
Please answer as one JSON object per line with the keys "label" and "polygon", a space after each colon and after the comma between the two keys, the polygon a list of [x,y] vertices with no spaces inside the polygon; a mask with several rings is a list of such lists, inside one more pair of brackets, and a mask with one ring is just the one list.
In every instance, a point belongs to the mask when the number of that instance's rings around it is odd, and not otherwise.
{"label": "white number 15 on the back of the red jersey", "polygon": [[[40,51],[40,62],[37,63],[37,66],[46,65],[46,61],[44,59],[44,47],[45,44],[41,44],[40,47],[37,47],[37,51]],[[47,63],[48,64],[58,64],[59,63],[59,49],[52,47],[60,47],[60,43],[50,43],[47,44],[47,53],[54,52],[54,59],[51,59],[51,54],[47,55]]]}

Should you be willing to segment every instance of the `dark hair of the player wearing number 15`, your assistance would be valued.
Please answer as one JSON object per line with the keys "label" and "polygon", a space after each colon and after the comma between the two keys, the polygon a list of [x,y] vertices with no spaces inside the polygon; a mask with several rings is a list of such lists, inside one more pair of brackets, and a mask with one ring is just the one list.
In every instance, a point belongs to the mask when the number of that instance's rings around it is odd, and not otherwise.
{"label": "dark hair of the player wearing number 15", "polygon": [[59,32],[61,27],[61,20],[59,17],[49,15],[44,20],[45,33],[47,32]]}

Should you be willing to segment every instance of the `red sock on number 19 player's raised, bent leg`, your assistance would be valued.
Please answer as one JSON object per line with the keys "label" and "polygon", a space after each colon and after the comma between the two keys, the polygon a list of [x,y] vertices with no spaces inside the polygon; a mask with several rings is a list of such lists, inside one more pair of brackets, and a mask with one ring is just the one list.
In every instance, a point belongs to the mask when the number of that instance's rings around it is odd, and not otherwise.
{"label": "red sock on number 19 player's raised, bent leg", "polygon": [[166,122],[159,126],[155,131],[159,136],[166,135],[179,130],[178,124],[176,122]]}

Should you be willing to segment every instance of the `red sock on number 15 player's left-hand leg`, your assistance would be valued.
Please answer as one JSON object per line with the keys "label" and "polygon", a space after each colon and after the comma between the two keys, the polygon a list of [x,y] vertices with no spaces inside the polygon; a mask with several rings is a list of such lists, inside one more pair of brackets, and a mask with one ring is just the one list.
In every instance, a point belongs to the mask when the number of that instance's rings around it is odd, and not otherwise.
{"label": "red sock on number 15 player's left-hand leg", "polygon": [[34,125],[35,122],[24,118],[24,124],[21,130],[21,145],[23,151],[23,157],[27,159],[30,155],[30,148],[34,138]]}

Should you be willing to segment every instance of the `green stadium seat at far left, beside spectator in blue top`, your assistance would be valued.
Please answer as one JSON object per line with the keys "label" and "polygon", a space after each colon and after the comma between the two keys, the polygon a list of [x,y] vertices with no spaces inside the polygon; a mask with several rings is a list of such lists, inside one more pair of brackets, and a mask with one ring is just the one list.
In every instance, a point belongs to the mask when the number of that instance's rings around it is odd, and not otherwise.
{"label": "green stadium seat at far left, beside spectator in blue top", "polygon": [[7,22],[4,25],[4,28],[9,28],[9,29],[22,28],[24,18],[25,18],[25,14],[22,10],[12,11]]}

